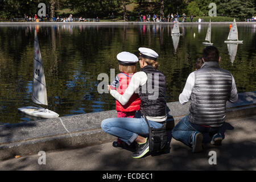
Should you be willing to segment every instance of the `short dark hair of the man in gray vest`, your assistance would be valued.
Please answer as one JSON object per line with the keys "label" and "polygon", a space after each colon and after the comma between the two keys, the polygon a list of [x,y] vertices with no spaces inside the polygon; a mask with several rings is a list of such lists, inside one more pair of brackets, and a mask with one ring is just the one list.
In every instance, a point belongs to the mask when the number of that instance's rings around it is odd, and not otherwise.
{"label": "short dark hair of the man in gray vest", "polygon": [[203,50],[203,58],[205,62],[208,61],[216,61],[218,62],[218,58],[220,57],[220,52],[214,46],[207,46]]}

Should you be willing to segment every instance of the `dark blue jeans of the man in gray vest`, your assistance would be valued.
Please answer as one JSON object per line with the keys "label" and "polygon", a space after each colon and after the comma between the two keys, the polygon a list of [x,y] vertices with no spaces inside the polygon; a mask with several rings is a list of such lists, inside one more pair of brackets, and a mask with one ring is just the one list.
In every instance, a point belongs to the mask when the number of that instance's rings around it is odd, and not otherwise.
{"label": "dark blue jeans of the man in gray vest", "polygon": [[201,125],[195,125],[188,121],[188,115],[180,120],[179,123],[172,129],[172,137],[180,142],[183,142],[189,147],[191,144],[191,135],[195,131],[200,133],[209,133],[210,137],[220,132],[221,127],[205,127]]}

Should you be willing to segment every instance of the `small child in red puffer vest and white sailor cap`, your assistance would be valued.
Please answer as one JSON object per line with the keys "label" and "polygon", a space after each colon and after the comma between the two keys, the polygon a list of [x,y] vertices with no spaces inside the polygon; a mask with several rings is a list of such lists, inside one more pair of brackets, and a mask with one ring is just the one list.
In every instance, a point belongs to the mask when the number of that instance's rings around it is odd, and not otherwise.
{"label": "small child in red puffer vest and white sailor cap", "polygon": [[[129,85],[131,77],[136,72],[136,63],[139,61],[138,57],[130,52],[121,52],[117,55],[117,60],[119,61],[119,73],[115,80],[110,85],[111,89],[116,89],[121,95],[125,93],[126,88]],[[134,118],[135,113],[139,110],[139,105],[141,100],[137,93],[131,96],[129,102],[126,105],[121,105],[117,100],[115,101],[115,110],[117,110],[118,118]],[[117,139],[113,142],[114,147],[123,147],[125,143]]]}

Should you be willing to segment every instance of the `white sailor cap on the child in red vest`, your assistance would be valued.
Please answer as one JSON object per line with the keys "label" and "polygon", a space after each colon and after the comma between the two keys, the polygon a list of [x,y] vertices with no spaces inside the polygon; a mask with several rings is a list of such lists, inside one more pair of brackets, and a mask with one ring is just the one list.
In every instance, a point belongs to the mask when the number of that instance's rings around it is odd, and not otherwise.
{"label": "white sailor cap on the child in red vest", "polygon": [[139,61],[136,55],[125,51],[118,53],[117,60],[119,61],[119,64],[122,65],[134,65]]}

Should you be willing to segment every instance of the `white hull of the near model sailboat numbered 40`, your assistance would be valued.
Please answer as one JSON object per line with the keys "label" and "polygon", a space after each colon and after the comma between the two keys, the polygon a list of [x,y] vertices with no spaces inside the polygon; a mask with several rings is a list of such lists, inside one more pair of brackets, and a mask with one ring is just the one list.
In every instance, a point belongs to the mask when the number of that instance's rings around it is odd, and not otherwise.
{"label": "white hull of the near model sailboat numbered 40", "polygon": [[47,110],[41,107],[34,107],[34,106],[26,106],[26,107],[20,107],[18,108],[19,111],[22,113],[32,115],[34,117],[40,117],[40,118],[57,118],[59,117],[59,114]]}

